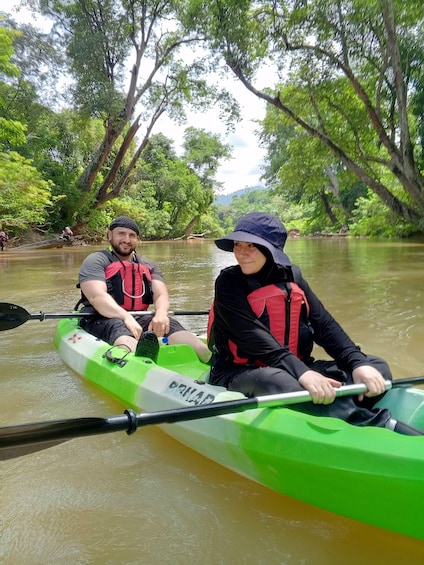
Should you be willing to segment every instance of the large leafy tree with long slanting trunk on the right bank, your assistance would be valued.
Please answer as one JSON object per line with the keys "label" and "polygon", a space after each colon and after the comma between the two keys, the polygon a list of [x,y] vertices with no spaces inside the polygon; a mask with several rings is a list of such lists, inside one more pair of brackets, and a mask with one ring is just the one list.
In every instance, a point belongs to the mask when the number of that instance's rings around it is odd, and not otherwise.
{"label": "large leafy tree with long slanting trunk on the right bank", "polygon": [[[245,87],[317,139],[396,215],[424,230],[413,116],[424,73],[421,1],[198,4],[193,25],[209,35],[211,48]],[[265,65],[277,84],[259,89],[256,71]]]}

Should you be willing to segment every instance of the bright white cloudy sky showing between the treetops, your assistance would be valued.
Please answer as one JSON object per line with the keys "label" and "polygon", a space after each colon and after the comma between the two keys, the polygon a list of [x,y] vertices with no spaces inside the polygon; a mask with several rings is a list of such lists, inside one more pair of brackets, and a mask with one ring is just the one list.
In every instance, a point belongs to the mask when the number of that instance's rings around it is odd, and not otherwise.
{"label": "bright white cloudy sky showing between the treetops", "polygon": [[[3,0],[2,8],[11,14],[17,22],[32,23],[48,31],[48,24],[42,18],[34,20],[34,16],[25,9],[18,9],[19,0]],[[257,129],[255,120],[265,116],[265,103],[249,92],[235,78],[229,79],[229,86],[234,97],[241,106],[243,120],[238,122],[231,133],[225,131],[225,126],[220,122],[218,114],[210,110],[203,114],[191,114],[188,123],[177,126],[165,116],[162,116],[153,133],[163,133],[175,141],[175,149],[179,152],[179,142],[186,127],[202,128],[208,132],[219,134],[222,140],[232,147],[232,157],[223,161],[217,173],[217,180],[222,183],[222,194],[231,194],[246,187],[263,184],[261,164],[264,150],[259,147],[254,133]]]}

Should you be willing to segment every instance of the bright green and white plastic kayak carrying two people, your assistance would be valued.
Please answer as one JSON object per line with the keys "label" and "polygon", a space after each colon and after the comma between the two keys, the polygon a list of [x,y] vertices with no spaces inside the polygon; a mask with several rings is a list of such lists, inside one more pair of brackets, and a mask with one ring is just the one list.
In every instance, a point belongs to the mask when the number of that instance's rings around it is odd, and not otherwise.
{"label": "bright green and white plastic kayak carrying two people", "polygon": [[[55,347],[78,375],[125,408],[172,410],[240,398],[207,383],[208,366],[186,345],[162,344],[157,363],[111,348],[59,322]],[[424,429],[424,391],[392,388],[381,405]],[[359,428],[287,407],[162,424],[180,442],[279,493],[336,514],[424,539],[424,436]]]}

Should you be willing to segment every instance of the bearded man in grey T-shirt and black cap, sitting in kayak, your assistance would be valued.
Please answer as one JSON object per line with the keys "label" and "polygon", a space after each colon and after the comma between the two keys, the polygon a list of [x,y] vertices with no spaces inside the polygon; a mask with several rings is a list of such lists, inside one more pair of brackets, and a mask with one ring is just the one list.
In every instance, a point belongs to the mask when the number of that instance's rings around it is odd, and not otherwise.
{"label": "bearded man in grey T-shirt and black cap, sitting in kayak", "polygon": [[[132,218],[120,216],[109,226],[109,248],[95,251],[83,261],[79,272],[82,311],[98,315],[83,318],[81,327],[111,345],[135,351],[136,355],[149,353],[155,357],[157,338],[167,337],[169,344],[191,345],[201,361],[209,361],[211,352],[207,345],[168,316],[169,295],[162,271],[153,261],[136,253],[139,234]],[[154,312],[129,314],[147,310],[150,304]]]}

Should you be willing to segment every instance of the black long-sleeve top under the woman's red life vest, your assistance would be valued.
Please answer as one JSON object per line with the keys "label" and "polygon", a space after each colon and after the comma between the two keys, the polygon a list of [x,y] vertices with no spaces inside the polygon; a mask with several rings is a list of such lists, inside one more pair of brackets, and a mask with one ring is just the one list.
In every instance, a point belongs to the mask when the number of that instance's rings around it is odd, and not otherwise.
{"label": "black long-sleeve top under the woman's red life vest", "polygon": [[367,363],[366,356],[311,290],[299,267],[283,268],[267,261],[255,275],[244,275],[237,265],[223,269],[216,279],[213,329],[216,356],[211,373],[214,383],[225,386],[226,371],[235,366],[228,348],[229,339],[237,345],[241,357],[279,367],[296,379],[308,370],[303,361],[274,338],[269,328],[254,314],[247,300],[252,289],[249,278],[255,279],[255,286],[265,286],[293,281],[294,272],[296,283],[304,291],[309,303],[308,322],[313,330],[313,341],[323,347],[341,369],[352,371]]}

